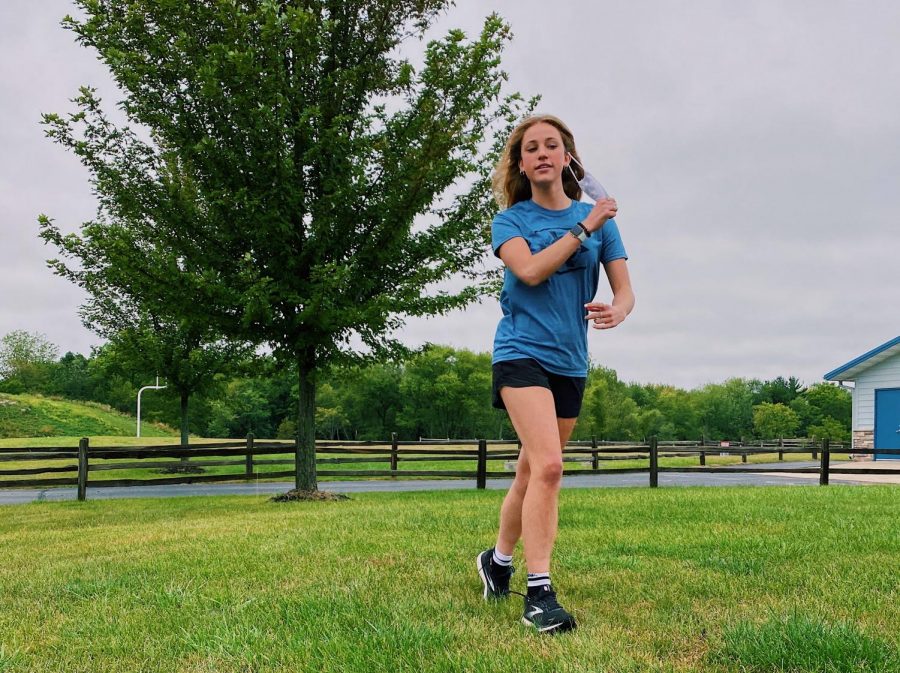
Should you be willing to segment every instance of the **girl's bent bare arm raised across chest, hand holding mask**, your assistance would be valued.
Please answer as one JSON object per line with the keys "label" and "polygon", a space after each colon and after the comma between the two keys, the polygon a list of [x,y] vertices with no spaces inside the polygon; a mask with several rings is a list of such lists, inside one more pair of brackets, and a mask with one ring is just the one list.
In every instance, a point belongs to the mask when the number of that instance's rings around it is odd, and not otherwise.
{"label": "girl's bent bare arm raised across chest, hand holding mask", "polygon": [[[598,201],[593,210],[584,219],[585,228],[589,232],[595,232],[602,227],[607,220],[616,216],[617,206],[615,199],[603,199]],[[528,243],[521,236],[516,236],[500,246],[498,254],[503,263],[509,267],[516,278],[526,285],[540,285],[550,276],[556,273],[569,257],[581,246],[581,241],[569,234],[551,243],[540,252],[531,253]]]}

